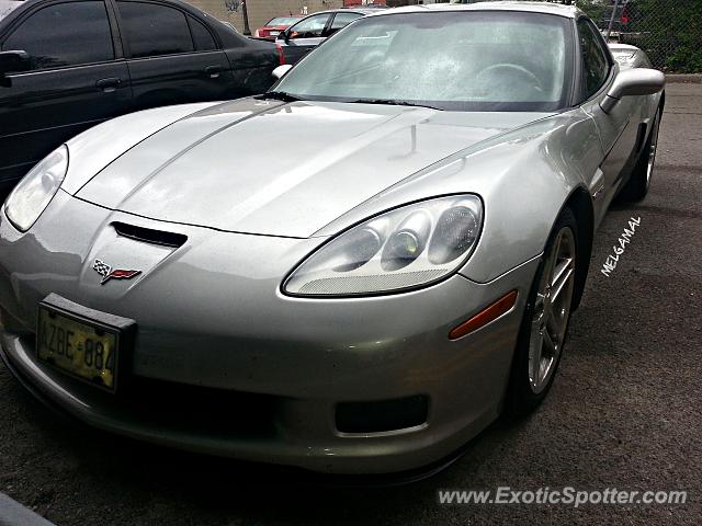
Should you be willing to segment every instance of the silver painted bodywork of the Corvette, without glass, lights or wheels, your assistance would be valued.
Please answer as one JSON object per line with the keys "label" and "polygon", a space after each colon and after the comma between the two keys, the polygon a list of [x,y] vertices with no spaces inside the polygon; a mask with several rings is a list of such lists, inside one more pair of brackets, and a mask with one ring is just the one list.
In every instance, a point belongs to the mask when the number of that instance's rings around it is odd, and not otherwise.
{"label": "silver painted bodywork of the Corvette, without glass, lights or wheels", "polygon": [[[427,9],[529,10],[554,4]],[[373,14],[372,16],[375,16]],[[377,15],[389,15],[381,12]],[[500,412],[525,299],[548,233],[575,191],[596,222],[624,183],[639,125],[660,93],[600,93],[557,114],[452,113],[361,104],[258,101],[173,106],[120,117],[68,142],[63,188],[26,233],[0,216],[0,343],[13,369],[101,428],[196,451],[333,472],[435,461]],[[276,161],[276,162],[272,162]],[[417,199],[474,193],[478,245],[460,272],[405,294],[292,298],[281,283],[330,237]],[[186,236],[176,249],[117,236],[113,221]],[[139,268],[100,285],[97,259]],[[510,290],[517,305],[452,341],[449,332]],[[132,371],[274,397],[265,436],[155,424],[36,362],[37,302],[49,293],[135,319]],[[349,435],[340,401],[424,393],[426,425]],[[237,419],[237,408],[222,414]]]}

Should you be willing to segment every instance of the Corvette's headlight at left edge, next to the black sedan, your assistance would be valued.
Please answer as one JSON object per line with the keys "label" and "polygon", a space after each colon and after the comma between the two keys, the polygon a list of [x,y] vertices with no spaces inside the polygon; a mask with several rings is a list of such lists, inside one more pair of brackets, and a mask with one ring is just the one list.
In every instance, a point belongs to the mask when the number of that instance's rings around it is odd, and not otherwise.
{"label": "Corvette's headlight at left edge, next to the black sedan", "polygon": [[27,173],[4,203],[8,219],[26,232],[52,201],[68,171],[66,145],[49,153]]}

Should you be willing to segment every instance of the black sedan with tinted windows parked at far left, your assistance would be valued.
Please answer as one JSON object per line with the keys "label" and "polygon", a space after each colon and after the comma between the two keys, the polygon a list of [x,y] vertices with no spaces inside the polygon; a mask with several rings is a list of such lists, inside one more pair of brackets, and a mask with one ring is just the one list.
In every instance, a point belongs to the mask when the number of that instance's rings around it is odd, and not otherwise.
{"label": "black sedan with tinted windows parked at far left", "polygon": [[179,0],[0,0],[0,198],[83,129],[265,91],[271,43]]}

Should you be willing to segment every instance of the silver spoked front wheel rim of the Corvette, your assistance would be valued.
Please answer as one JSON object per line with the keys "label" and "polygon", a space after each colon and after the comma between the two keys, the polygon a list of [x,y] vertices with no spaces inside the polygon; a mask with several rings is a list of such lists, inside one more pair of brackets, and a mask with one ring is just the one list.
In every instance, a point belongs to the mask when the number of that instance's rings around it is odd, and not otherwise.
{"label": "silver spoked front wheel rim of the Corvette", "polygon": [[564,227],[546,254],[531,321],[529,384],[534,395],[548,385],[558,365],[575,289],[575,236]]}

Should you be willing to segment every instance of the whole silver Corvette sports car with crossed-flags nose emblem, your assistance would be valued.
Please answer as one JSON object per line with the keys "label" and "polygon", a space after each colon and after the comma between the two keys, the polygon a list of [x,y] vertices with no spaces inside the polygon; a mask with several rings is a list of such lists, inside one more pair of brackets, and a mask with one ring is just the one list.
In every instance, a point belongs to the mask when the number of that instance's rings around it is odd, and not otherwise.
{"label": "whole silver Corvette sports car with crossed-flags nose emblem", "polygon": [[575,8],[361,19],[263,95],[101,124],[0,218],[2,357],[97,427],[317,471],[451,456],[546,396],[664,77]]}

